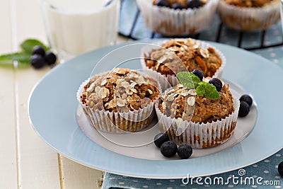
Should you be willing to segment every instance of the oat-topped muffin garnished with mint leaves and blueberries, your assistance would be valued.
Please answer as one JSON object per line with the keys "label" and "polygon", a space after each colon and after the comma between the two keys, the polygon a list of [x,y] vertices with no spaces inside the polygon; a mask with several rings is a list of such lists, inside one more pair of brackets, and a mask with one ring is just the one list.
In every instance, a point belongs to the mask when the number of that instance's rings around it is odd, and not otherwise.
{"label": "oat-topped muffin garnished with mint leaves and blueberries", "polygon": [[[206,78],[196,88],[178,84],[156,102],[161,131],[177,144],[204,149],[223,144],[233,135],[239,102],[233,98],[229,85],[222,84],[217,91],[212,80]],[[202,93],[204,86],[207,91]]]}

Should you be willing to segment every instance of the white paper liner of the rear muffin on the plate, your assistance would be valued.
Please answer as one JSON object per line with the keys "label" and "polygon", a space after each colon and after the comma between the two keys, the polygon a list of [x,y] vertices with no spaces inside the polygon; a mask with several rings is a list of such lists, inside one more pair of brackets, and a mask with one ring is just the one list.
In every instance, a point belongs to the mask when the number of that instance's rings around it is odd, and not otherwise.
{"label": "white paper liner of the rear muffin on the plate", "polygon": [[[185,40],[185,39],[176,39],[176,40]],[[167,40],[162,40],[158,42],[152,43],[153,45],[146,45],[141,49],[141,57],[144,57],[144,54],[149,55],[149,52],[154,48],[158,48],[158,46],[161,46],[163,43],[165,43]],[[212,77],[216,77],[221,79],[224,67],[226,65],[226,57],[223,55],[223,53],[218,50],[216,47],[210,45],[207,42],[203,42],[201,40],[195,40],[197,43],[200,43],[201,48],[208,48],[212,47],[215,52],[219,55],[221,59],[221,66],[219,69],[216,70],[214,75]],[[158,46],[156,46],[158,45]],[[144,61],[143,58],[141,58],[141,67],[144,69],[146,74],[151,76],[152,78],[155,78],[159,83],[161,84],[162,91],[166,91],[167,88],[171,88],[172,86],[176,86],[179,84],[179,81],[177,80],[177,77],[175,75],[166,75],[166,74],[161,74],[158,71],[154,71],[154,69],[149,69],[149,67],[146,66],[146,62]]]}

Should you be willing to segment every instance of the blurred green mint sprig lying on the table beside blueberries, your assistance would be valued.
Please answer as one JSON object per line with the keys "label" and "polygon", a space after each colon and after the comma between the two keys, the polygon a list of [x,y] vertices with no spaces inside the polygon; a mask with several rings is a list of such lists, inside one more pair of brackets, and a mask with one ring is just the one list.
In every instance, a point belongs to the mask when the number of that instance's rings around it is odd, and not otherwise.
{"label": "blurred green mint sprig lying on the table beside blueberries", "polygon": [[19,66],[29,65],[35,45],[40,45],[45,51],[50,50],[50,47],[47,47],[39,40],[28,39],[21,43],[21,51],[0,55],[0,65],[13,66],[14,61],[17,61]]}

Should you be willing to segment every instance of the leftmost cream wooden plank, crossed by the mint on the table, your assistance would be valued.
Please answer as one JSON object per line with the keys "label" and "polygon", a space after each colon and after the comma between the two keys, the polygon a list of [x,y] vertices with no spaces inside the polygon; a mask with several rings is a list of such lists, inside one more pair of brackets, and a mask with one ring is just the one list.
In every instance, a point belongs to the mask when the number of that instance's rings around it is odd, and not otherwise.
{"label": "leftmost cream wooden plank, crossed by the mint on the table", "polygon": [[[9,1],[0,6],[0,53],[11,52],[11,17]],[[4,29],[3,29],[4,28]],[[17,188],[16,122],[14,72],[0,68],[0,188]]]}

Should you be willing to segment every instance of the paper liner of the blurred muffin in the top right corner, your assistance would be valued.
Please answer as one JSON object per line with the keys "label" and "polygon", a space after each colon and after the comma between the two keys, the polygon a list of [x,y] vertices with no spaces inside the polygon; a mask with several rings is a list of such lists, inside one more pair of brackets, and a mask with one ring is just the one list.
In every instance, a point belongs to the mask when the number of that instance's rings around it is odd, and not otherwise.
{"label": "paper liner of the blurred muffin in the top right corner", "polygon": [[219,0],[218,13],[222,23],[234,30],[265,30],[280,20],[277,0],[260,8],[237,7]]}

